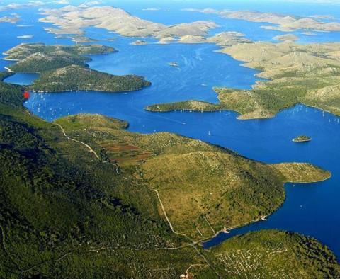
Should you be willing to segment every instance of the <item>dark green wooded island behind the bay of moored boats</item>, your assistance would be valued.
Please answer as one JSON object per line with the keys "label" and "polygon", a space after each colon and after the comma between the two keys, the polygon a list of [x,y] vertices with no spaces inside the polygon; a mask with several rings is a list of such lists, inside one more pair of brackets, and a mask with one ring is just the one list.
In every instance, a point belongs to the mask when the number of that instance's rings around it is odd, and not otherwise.
{"label": "dark green wooded island behind the bay of moored boats", "polygon": [[115,76],[89,69],[91,58],[115,52],[103,45],[21,44],[5,52],[5,59],[16,61],[8,66],[11,72],[33,72],[40,76],[27,89],[33,91],[135,91],[150,86],[142,76]]}

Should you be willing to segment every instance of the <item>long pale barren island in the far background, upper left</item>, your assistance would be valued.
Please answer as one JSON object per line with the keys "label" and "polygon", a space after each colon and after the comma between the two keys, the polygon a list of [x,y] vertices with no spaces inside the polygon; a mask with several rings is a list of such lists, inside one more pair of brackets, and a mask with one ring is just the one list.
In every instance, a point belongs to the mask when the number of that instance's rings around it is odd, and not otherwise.
{"label": "long pale barren island in the far background, upper left", "polygon": [[[83,28],[97,27],[113,31],[129,37],[152,36],[157,39],[166,37],[181,37],[185,35],[200,36],[209,30],[217,28],[212,21],[195,21],[192,23],[179,23],[164,25],[146,21],[121,8],[113,6],[72,6],[72,8],[42,8],[44,18],[39,21],[52,23],[53,27],[47,27],[47,32],[62,34],[84,33]],[[89,20],[91,18],[91,20]],[[123,24],[122,24],[123,23]]]}

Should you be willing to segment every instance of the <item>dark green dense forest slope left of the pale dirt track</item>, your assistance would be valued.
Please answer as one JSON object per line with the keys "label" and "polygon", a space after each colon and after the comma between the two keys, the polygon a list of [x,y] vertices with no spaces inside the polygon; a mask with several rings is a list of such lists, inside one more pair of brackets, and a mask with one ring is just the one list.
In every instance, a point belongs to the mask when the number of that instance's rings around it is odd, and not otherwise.
{"label": "dark green dense forest slope left of the pale dirt track", "polygon": [[18,106],[18,86],[0,85],[0,277],[145,278],[162,266],[171,265],[172,275],[185,270],[194,251],[157,250],[183,239],[159,216],[154,195],[57,125],[30,116]]}

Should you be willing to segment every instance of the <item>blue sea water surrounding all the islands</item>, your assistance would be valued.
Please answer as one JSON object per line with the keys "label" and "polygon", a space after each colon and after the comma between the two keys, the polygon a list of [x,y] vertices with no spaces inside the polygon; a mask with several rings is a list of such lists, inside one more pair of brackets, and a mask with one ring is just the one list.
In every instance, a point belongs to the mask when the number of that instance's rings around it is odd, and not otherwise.
{"label": "blue sea water surrounding all the islands", "polygon": [[[105,4],[105,3],[104,3]],[[238,31],[251,40],[268,40],[282,32],[263,30],[263,23],[219,18],[204,13],[181,11],[181,8],[230,8],[236,10],[258,10],[278,13],[293,13],[300,16],[331,14],[340,18],[339,6],[324,4],[287,4],[277,1],[214,1],[207,6],[206,1],[110,1],[110,4],[125,8],[142,18],[174,24],[197,20],[213,20],[220,25],[210,33],[224,30]],[[145,8],[161,8],[159,11],[143,11]],[[338,8],[336,8],[338,7]],[[168,11],[169,10],[169,11]],[[22,15],[18,24],[31,25],[21,28],[9,23],[0,23],[0,50],[18,45],[20,42],[45,42],[47,44],[72,44],[68,39],[55,39],[42,28],[50,26],[37,23],[38,8],[15,11]],[[4,12],[0,12],[2,16]],[[3,32],[4,31],[4,32]],[[24,32],[23,32],[24,31]],[[268,217],[268,221],[257,222],[230,234],[219,234],[205,243],[205,247],[215,245],[232,237],[257,229],[277,228],[300,232],[316,237],[327,244],[340,258],[340,118],[323,113],[315,108],[298,105],[284,110],[268,120],[237,120],[237,113],[221,111],[215,113],[150,113],[145,106],[153,103],[182,101],[191,98],[216,102],[213,86],[227,86],[249,89],[254,84],[257,73],[254,69],[242,67],[228,55],[215,52],[219,49],[212,44],[169,44],[157,45],[147,38],[149,45],[135,46],[130,42],[140,38],[124,38],[115,33],[98,28],[87,28],[87,34],[99,43],[111,45],[119,52],[110,55],[94,55],[89,66],[111,74],[139,74],[152,81],[152,86],[142,91],[129,93],[65,92],[32,93],[26,107],[46,120],[54,120],[62,115],[75,113],[101,113],[128,120],[133,132],[176,132],[212,144],[232,149],[251,159],[266,163],[282,161],[306,161],[331,171],[328,181],[320,183],[292,184],[285,186],[286,200],[279,210]],[[300,43],[329,42],[340,40],[339,32],[302,35]],[[17,38],[18,35],[34,35],[33,39]],[[108,41],[108,38],[115,38]],[[4,56],[3,56],[4,57]],[[169,62],[179,62],[179,67],[170,67]],[[1,60],[0,67],[12,62]],[[29,84],[35,76],[14,75],[8,82]],[[296,135],[312,137],[311,142],[296,144],[291,141]]]}

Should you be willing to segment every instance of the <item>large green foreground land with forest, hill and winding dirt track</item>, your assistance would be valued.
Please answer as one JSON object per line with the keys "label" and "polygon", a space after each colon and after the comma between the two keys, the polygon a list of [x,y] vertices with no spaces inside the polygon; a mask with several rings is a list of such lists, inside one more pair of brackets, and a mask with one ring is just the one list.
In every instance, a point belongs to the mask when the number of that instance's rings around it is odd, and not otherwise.
{"label": "large green foreground land with forest, hill and winding dirt track", "polygon": [[0,73],[2,278],[339,277],[334,254],[300,234],[262,230],[210,250],[200,244],[276,210],[285,181],[328,171],[129,132],[103,115],[49,123],[23,107],[22,86],[1,81],[11,74]]}

